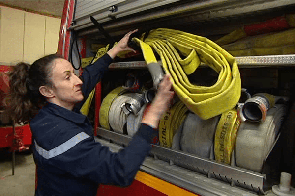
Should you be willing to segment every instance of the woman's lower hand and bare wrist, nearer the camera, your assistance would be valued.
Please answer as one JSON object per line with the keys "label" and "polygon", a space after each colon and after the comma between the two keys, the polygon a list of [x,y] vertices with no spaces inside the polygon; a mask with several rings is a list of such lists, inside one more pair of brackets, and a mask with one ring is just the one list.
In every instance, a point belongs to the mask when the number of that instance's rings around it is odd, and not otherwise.
{"label": "woman's lower hand and bare wrist, nearer the camera", "polygon": [[142,123],[153,128],[158,128],[159,121],[163,113],[169,108],[174,92],[171,91],[172,82],[169,75],[165,75],[159,83],[158,92],[151,103],[151,106],[144,116]]}

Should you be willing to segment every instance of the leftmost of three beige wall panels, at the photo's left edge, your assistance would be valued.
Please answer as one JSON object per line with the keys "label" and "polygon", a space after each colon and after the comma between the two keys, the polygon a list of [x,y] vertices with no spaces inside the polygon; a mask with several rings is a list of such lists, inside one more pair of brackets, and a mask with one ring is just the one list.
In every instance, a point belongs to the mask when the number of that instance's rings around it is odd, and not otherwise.
{"label": "leftmost of three beige wall panels, at the photo's left edge", "polygon": [[23,61],[25,12],[0,6],[0,62]]}

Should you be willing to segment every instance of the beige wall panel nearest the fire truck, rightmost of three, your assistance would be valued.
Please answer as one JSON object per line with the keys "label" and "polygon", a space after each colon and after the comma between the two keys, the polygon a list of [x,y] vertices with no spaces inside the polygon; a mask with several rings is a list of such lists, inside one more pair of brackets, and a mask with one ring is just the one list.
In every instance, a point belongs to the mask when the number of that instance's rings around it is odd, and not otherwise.
{"label": "beige wall panel nearest the fire truck, rightmost of three", "polygon": [[61,19],[46,17],[44,55],[58,51],[60,22]]}

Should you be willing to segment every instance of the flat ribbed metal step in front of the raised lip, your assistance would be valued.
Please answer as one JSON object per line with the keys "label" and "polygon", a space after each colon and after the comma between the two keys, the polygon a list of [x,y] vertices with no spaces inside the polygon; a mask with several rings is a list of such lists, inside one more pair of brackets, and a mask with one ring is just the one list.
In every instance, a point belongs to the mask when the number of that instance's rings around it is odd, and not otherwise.
{"label": "flat ribbed metal step in front of the raised lip", "polygon": [[[95,140],[101,145],[109,147],[113,152],[118,152],[122,148],[105,139],[95,138]],[[177,165],[170,165],[150,156],[146,157],[140,170],[202,196],[257,196],[255,192],[231,186],[223,181],[208,178],[206,175]]]}

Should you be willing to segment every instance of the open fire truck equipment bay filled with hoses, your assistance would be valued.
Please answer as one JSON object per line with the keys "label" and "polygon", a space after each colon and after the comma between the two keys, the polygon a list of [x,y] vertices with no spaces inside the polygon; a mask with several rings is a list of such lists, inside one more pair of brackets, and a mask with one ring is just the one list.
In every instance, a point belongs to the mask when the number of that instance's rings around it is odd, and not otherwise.
{"label": "open fire truck equipment bay filled with hoses", "polygon": [[118,55],[89,98],[98,142],[114,151],[128,144],[156,92],[148,67],[156,63],[175,98],[141,172],[200,196],[295,194],[295,1],[76,0],[65,8],[61,33],[70,39],[59,42],[77,69],[138,29],[129,43],[137,52]]}

